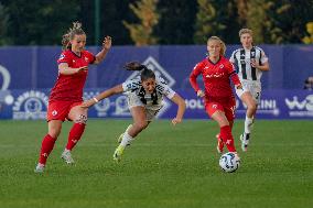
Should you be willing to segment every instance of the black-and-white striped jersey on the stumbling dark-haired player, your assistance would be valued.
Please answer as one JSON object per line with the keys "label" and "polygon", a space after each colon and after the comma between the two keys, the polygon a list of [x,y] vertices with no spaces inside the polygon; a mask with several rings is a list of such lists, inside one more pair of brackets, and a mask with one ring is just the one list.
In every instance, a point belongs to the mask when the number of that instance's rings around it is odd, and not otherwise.
{"label": "black-and-white striped jersey on the stumbling dark-haired player", "polygon": [[152,94],[145,92],[140,77],[125,81],[122,84],[122,89],[125,92],[138,97],[138,99],[140,99],[141,102],[147,107],[162,106],[163,96],[166,96],[169,99],[171,99],[175,95],[175,91],[171,89],[162,77],[155,78],[155,89]]}

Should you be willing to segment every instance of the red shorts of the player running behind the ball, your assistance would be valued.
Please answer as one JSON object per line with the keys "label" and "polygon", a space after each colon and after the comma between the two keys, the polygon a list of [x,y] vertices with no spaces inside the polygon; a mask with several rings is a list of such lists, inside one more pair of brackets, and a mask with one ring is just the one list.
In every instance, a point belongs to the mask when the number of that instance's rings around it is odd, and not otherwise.
{"label": "red shorts of the player running behind the ball", "polygon": [[228,102],[219,101],[205,101],[205,111],[212,118],[212,114],[217,110],[223,111],[228,121],[234,121],[235,110],[236,110],[236,100],[230,98]]}

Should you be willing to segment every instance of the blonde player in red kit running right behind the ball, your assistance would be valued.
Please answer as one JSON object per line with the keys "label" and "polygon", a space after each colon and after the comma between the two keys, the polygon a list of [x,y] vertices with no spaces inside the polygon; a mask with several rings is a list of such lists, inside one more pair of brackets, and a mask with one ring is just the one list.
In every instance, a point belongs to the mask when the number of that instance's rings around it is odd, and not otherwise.
{"label": "blonde player in red kit running right behind the ball", "polygon": [[[242,90],[241,84],[231,63],[224,57],[226,46],[219,37],[208,39],[207,51],[208,57],[194,67],[190,81],[197,96],[204,98],[206,112],[220,128],[217,151],[222,153],[226,144],[229,152],[236,152],[231,134],[236,101],[229,79]],[[198,75],[203,76],[204,91],[196,81]]]}

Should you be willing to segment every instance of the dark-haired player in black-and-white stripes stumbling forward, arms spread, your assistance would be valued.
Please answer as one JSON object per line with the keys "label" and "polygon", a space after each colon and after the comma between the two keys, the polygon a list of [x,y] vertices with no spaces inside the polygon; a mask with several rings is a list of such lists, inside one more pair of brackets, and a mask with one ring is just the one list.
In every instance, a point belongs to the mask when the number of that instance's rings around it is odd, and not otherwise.
{"label": "dark-haired player in black-and-white stripes stumbling forward, arms spread", "polygon": [[120,144],[114,153],[114,160],[116,162],[121,160],[125,147],[130,144],[158,114],[163,106],[162,100],[164,96],[179,106],[176,117],[172,120],[174,125],[182,122],[186,108],[184,99],[182,99],[179,94],[173,91],[166,85],[163,78],[155,77],[155,74],[151,69],[147,68],[147,66],[137,62],[131,62],[128,63],[125,68],[127,70],[140,70],[140,77],[105,90],[82,105],[85,108],[89,108],[98,101],[112,95],[121,92],[128,94],[128,107],[132,114],[133,123],[130,124],[118,139]]}

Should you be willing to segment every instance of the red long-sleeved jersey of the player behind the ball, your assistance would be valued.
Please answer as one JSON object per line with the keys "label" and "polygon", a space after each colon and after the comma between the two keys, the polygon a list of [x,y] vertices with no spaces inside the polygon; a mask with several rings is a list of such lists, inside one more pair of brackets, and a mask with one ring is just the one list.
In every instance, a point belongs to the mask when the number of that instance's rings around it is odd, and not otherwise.
{"label": "red long-sleeved jersey of the player behind the ball", "polygon": [[231,78],[235,85],[240,84],[233,64],[225,57],[220,57],[215,64],[208,58],[205,58],[195,65],[190,75],[190,81],[195,91],[199,90],[196,81],[199,74],[203,76],[205,95],[208,100],[214,99],[222,101],[234,97],[229,78]]}

